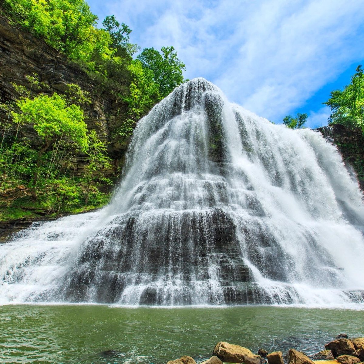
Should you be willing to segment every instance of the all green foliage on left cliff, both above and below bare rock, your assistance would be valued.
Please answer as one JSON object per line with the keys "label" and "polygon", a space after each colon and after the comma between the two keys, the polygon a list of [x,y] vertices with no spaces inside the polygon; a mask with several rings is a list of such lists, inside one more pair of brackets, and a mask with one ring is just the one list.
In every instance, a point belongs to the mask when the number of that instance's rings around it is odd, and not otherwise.
{"label": "all green foliage on left cliff, both above and below bare rock", "polygon": [[[106,91],[127,105],[113,135],[120,142],[183,82],[185,65],[173,47],[162,47],[162,53],[146,48],[133,59],[140,47],[130,42],[131,29],[114,15],[97,28],[98,17],[84,0],[3,0],[1,6],[13,24],[86,71],[96,85],[94,93]],[[87,130],[84,122],[90,94],[76,84],[68,84],[64,94],[52,94],[37,75],[27,80],[27,86],[13,84],[15,102],[0,103],[7,115],[0,120],[0,220],[104,205],[109,196],[102,191],[112,184],[105,176],[112,166],[104,128]]]}

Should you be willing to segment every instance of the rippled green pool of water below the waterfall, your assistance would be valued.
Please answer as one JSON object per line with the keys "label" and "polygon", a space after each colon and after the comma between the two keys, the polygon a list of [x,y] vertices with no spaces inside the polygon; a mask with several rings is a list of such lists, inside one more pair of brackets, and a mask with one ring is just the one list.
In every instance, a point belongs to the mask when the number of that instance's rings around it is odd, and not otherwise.
{"label": "rippled green pool of water below the waterfall", "polygon": [[[314,353],[340,332],[364,336],[364,311],[271,306],[0,306],[0,363],[166,363],[209,357],[218,341]],[[113,358],[100,352],[115,350]]]}

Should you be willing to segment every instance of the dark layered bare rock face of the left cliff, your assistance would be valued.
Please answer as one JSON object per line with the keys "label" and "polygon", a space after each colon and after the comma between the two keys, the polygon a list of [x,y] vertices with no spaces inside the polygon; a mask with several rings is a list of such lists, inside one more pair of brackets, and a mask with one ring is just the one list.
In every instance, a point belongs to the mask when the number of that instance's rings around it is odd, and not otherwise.
{"label": "dark layered bare rock face of the left cliff", "polygon": [[[101,135],[109,142],[108,152],[116,171],[124,161],[129,140],[115,139],[113,131],[126,118],[126,104],[115,102],[111,94],[97,93],[95,82],[64,54],[0,16],[0,101],[15,100],[16,93],[11,82],[29,87],[25,76],[33,72],[49,86],[49,89],[40,90],[44,93],[62,94],[69,83],[78,84],[82,90],[91,93],[92,103],[84,108],[85,122],[89,130],[99,131],[101,125]],[[7,119],[7,116],[0,110],[0,119],[4,118]],[[25,126],[22,133],[33,145],[39,143],[33,128]],[[79,155],[72,167],[75,175],[84,173],[85,163],[85,156]],[[107,177],[112,177],[115,171]]]}

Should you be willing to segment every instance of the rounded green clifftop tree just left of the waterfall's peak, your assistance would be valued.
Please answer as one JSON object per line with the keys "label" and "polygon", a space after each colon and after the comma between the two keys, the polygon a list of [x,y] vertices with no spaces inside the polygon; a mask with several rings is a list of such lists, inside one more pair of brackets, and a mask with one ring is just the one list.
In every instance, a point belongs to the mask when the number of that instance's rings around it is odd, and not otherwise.
{"label": "rounded green clifftop tree just left of the waterfall's peak", "polygon": [[183,83],[185,64],[178,59],[174,47],[162,47],[162,53],[152,48],[145,48],[137,57],[144,68],[153,71],[154,82],[159,85],[159,94],[167,96],[175,87]]}

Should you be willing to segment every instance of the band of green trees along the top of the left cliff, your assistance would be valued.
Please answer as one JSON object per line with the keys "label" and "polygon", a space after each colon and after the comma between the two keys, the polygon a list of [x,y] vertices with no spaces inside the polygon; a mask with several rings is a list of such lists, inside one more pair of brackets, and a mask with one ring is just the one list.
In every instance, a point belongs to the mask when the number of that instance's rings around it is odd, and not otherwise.
{"label": "band of green trees along the top of the left cliff", "polygon": [[162,54],[145,48],[132,59],[140,47],[129,42],[131,29],[114,15],[106,16],[104,28],[96,28],[98,17],[84,0],[4,0],[3,6],[14,22],[78,63],[103,90],[127,102],[134,122],[183,82],[185,65],[173,47],[162,47]]}

